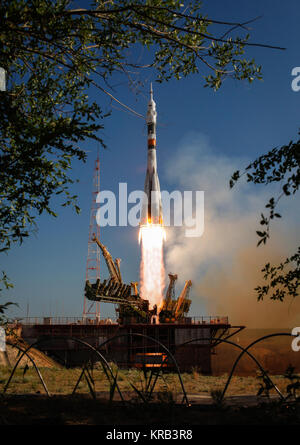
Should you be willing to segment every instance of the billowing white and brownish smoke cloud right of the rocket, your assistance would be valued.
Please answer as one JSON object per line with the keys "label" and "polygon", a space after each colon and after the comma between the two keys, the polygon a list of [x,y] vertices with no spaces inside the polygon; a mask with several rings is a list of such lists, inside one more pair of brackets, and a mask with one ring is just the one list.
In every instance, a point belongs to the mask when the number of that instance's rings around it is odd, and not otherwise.
{"label": "billowing white and brownish smoke cloud right of the rocket", "polygon": [[166,271],[178,273],[179,287],[192,279],[193,315],[228,315],[232,323],[252,327],[292,326],[298,302],[291,316],[289,301],[257,303],[253,289],[266,262],[277,263],[296,250],[295,206],[290,198],[281,204],[284,217],[272,224],[269,243],[257,248],[260,213],[266,213],[264,206],[280,185],[241,180],[230,190],[232,173],[249,161],[218,153],[201,134],[179,143],[165,177],[173,188],[204,191],[205,228],[200,238],[185,237],[184,228],[167,229]]}

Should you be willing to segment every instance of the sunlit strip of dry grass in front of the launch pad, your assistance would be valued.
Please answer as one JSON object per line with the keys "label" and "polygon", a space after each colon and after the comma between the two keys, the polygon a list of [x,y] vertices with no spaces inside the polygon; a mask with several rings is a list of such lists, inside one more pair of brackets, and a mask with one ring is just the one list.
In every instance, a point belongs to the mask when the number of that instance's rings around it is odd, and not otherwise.
{"label": "sunlit strip of dry grass in front of the launch pad", "polygon": [[[11,369],[9,368],[0,368],[0,393],[3,391],[10,372]],[[40,368],[40,372],[51,394],[67,395],[72,393],[75,383],[80,376],[81,368]],[[27,369],[25,375],[23,375],[23,373],[23,368],[17,368],[8,388],[8,394],[44,393],[43,386],[33,368]],[[91,374],[94,381],[94,390],[96,392],[109,393],[110,384],[103,370],[101,368],[94,369]],[[184,387],[188,394],[203,394],[208,396],[210,396],[213,391],[221,391],[226,384],[227,378],[227,374],[222,376],[204,376],[196,370],[192,373],[182,374]],[[288,384],[287,379],[280,375],[272,376],[271,378],[278,388],[285,392]],[[146,389],[144,373],[137,369],[119,370],[117,381],[122,392],[132,392],[133,386],[139,391]],[[242,394],[256,395],[260,386],[259,384],[260,381],[255,376],[234,376],[229,385],[227,396]],[[82,394],[89,393],[88,384],[84,378],[81,379],[76,392]],[[177,395],[180,395],[182,390],[177,374],[166,373],[160,375],[157,379],[155,392],[171,393],[173,399],[175,399]],[[272,393],[275,393],[275,391],[271,390],[271,394]],[[171,397],[171,395],[168,397]]]}

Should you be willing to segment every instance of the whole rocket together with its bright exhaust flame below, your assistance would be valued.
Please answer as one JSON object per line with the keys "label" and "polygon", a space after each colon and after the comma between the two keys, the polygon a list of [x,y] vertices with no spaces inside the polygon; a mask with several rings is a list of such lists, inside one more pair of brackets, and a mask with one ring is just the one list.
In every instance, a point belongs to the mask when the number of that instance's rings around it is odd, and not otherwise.
{"label": "whole rocket together with its bright exhaust flame below", "polygon": [[156,161],[156,104],[153,100],[152,84],[147,110],[148,161],[145,179],[145,200],[142,205],[139,241],[141,243],[140,293],[149,300],[150,306],[158,310],[163,302],[164,260],[162,204]]}

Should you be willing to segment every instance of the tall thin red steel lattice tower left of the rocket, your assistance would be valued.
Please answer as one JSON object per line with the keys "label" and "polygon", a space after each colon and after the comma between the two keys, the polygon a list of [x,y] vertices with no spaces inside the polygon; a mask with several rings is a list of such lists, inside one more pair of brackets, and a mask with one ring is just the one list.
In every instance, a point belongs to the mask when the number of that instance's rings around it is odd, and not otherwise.
{"label": "tall thin red steel lattice tower left of the rocket", "polygon": [[[90,225],[89,225],[89,239],[88,239],[88,254],[86,260],[86,274],[85,279],[90,283],[95,283],[100,279],[100,249],[93,241],[93,236],[96,235],[100,239],[100,226],[96,222],[96,213],[98,208],[96,207],[96,198],[100,192],[100,161],[99,152],[95,161],[94,174],[93,174],[93,191],[92,191],[92,203],[90,213]],[[100,302],[91,302],[84,296],[83,301],[83,318],[96,318],[100,319]]]}

